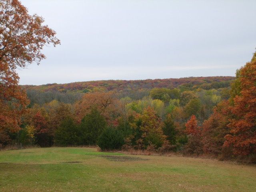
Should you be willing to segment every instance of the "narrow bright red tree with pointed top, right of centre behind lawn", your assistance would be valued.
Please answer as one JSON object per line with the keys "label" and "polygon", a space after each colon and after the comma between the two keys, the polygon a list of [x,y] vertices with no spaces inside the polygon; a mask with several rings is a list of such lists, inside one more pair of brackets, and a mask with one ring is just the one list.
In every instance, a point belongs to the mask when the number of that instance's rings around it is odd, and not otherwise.
{"label": "narrow bright red tree with pointed top, right of centre behind lawn", "polygon": [[185,153],[201,154],[202,153],[202,137],[201,130],[197,125],[196,116],[192,115],[186,123],[186,133],[188,134],[188,143],[185,146]]}

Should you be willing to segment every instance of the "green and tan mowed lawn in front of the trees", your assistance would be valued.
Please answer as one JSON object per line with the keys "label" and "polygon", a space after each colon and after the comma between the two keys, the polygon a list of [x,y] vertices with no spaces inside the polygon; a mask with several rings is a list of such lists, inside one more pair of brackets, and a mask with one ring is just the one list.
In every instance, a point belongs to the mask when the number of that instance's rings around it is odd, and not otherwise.
{"label": "green and tan mowed lawn in front of the trees", "polygon": [[255,192],[256,166],[95,148],[0,151],[0,191]]}

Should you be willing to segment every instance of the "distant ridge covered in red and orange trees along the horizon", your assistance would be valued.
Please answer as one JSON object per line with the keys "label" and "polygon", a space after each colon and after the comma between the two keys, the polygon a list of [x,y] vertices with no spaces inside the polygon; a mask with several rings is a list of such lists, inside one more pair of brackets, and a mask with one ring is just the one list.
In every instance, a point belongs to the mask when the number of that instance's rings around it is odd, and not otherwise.
{"label": "distant ridge covered in red and orange trees along the horizon", "polygon": [[187,78],[169,78],[169,79],[147,79],[147,80],[98,80],[86,82],[72,82],[67,84],[44,84],[40,86],[22,85],[26,90],[41,91],[82,91],[90,90],[140,90],[152,88],[177,88],[186,86],[187,89],[201,87],[203,89],[223,88],[230,85],[234,80],[232,76],[213,76],[213,77],[187,77]]}

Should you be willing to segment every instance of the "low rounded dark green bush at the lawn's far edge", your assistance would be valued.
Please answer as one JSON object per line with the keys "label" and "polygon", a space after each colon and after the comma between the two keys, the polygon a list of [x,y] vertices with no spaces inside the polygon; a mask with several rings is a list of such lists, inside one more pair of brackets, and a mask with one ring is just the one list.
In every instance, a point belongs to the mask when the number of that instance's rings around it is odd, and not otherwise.
{"label": "low rounded dark green bush at the lawn's far edge", "polygon": [[101,150],[118,150],[122,145],[124,145],[123,134],[116,128],[105,128],[98,138],[98,146]]}

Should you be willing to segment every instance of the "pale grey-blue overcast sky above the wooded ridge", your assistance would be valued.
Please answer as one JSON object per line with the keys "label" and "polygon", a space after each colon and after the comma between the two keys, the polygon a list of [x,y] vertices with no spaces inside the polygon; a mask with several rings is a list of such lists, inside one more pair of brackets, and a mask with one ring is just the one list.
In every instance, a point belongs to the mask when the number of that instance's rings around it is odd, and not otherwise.
{"label": "pale grey-blue overcast sky above the wooded ridge", "polygon": [[20,84],[235,76],[256,47],[255,0],[20,0],[56,31]]}

